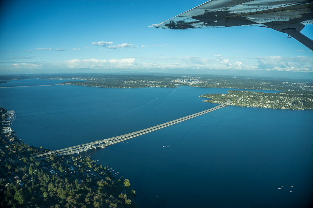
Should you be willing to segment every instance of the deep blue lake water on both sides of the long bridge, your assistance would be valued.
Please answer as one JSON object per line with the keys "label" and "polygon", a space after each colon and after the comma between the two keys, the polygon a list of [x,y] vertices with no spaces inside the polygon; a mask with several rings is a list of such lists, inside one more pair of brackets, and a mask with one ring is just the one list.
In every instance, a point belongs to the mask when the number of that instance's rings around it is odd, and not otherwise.
{"label": "deep blue lake water on both sides of the long bridge", "polygon": [[[11,127],[25,143],[56,150],[212,108],[198,96],[228,90],[2,88],[0,104],[16,111]],[[228,106],[87,155],[128,178],[140,207],[303,207],[313,196],[312,124],[313,110]]]}

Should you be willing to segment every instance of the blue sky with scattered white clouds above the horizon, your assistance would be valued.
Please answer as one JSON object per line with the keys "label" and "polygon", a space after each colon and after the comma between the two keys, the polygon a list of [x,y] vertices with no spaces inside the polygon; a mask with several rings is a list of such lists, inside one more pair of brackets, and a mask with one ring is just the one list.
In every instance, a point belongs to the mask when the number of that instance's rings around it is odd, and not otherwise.
{"label": "blue sky with scattered white clouds above the horizon", "polygon": [[[204,2],[2,1],[0,74],[190,69],[313,77],[313,52],[269,28],[148,27]],[[312,31],[302,33],[313,39]]]}

